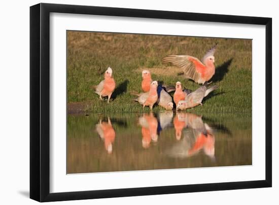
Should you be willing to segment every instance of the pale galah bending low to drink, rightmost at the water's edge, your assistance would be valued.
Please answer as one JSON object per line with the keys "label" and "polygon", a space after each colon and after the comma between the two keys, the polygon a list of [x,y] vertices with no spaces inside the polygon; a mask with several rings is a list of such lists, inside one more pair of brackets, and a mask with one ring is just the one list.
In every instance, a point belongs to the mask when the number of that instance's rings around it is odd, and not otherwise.
{"label": "pale galah bending low to drink, rightmost at the water's edge", "polygon": [[189,95],[187,95],[184,100],[179,101],[177,110],[186,110],[188,108],[202,105],[202,99],[217,88],[217,85],[214,85],[208,89],[206,88],[206,85],[199,87],[194,92],[191,92]]}

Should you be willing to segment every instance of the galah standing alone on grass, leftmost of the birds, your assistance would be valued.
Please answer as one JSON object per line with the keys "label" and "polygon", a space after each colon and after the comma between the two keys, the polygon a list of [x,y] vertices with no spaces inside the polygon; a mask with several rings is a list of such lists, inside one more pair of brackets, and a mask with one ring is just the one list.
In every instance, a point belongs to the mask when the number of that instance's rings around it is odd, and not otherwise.
{"label": "galah standing alone on grass, leftmost of the birds", "polygon": [[102,80],[99,85],[94,87],[95,93],[100,96],[100,99],[108,96],[108,103],[110,103],[110,98],[116,86],[112,74],[113,70],[111,67],[108,67],[107,71],[104,73],[104,80]]}

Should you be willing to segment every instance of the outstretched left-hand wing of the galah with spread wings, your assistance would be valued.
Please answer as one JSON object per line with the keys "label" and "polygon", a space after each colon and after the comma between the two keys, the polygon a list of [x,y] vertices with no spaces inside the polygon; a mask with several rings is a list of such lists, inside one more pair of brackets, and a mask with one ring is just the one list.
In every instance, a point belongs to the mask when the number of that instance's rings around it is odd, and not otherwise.
{"label": "outstretched left-hand wing of the galah with spread wings", "polygon": [[200,73],[205,68],[205,65],[199,59],[189,55],[168,55],[163,58],[163,63],[167,62],[181,67],[184,75],[195,82],[198,82]]}

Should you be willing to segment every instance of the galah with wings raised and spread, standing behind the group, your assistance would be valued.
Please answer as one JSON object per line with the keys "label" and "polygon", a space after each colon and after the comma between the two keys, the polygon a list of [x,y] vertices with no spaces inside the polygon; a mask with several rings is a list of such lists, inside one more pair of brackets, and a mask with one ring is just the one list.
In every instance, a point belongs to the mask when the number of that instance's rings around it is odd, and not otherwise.
{"label": "galah with wings raised and spread, standing behind the group", "polygon": [[168,55],[163,58],[163,62],[170,62],[181,67],[186,78],[192,79],[198,84],[204,84],[215,74],[214,53],[216,46],[217,44],[208,50],[201,61],[190,55]]}

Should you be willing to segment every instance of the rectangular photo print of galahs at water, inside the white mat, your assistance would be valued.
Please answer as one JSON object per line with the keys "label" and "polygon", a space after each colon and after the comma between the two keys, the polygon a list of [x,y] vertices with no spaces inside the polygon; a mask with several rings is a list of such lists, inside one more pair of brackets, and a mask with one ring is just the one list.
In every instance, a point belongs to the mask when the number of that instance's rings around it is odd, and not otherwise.
{"label": "rectangular photo print of galahs at water, inside the white mat", "polygon": [[252,40],[66,31],[67,174],[252,165]]}

